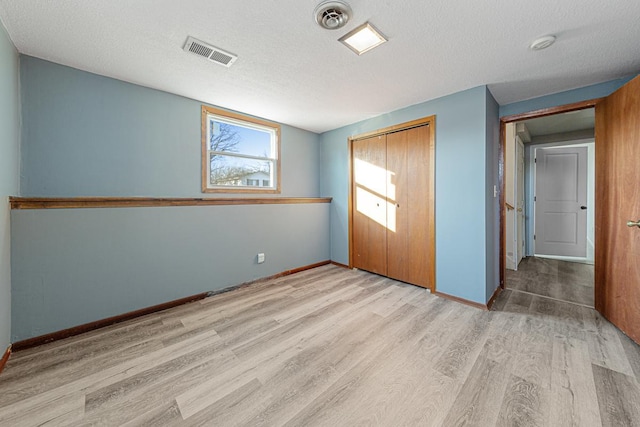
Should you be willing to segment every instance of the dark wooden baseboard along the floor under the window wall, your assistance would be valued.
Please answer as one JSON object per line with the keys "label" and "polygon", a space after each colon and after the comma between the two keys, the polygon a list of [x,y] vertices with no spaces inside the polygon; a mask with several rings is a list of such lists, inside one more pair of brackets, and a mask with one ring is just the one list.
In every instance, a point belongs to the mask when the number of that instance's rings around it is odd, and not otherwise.
{"label": "dark wooden baseboard along the floor under the window wall", "polygon": [[[61,339],[64,339],[64,338],[69,338],[69,337],[72,337],[72,336],[80,335],[80,334],[83,334],[85,332],[93,331],[93,330],[104,328],[104,327],[111,326],[111,325],[115,325],[117,323],[122,323],[122,322],[125,322],[127,320],[131,320],[131,319],[135,319],[135,318],[138,318],[138,317],[145,316],[147,314],[156,313],[158,311],[163,311],[163,310],[167,310],[169,308],[177,307],[177,306],[180,306],[180,305],[183,305],[183,304],[187,304],[187,303],[190,303],[190,302],[199,301],[199,300],[202,300],[204,298],[211,297],[211,296],[218,295],[218,294],[222,294],[222,293],[229,292],[229,291],[233,291],[235,289],[244,288],[246,286],[251,286],[254,283],[262,282],[262,281],[265,281],[265,280],[277,279],[279,277],[284,277],[284,276],[288,276],[288,275],[291,275],[291,274],[299,273],[301,271],[310,270],[312,268],[316,268],[316,267],[320,267],[320,266],[323,266],[323,265],[327,265],[329,263],[330,263],[329,260],[320,261],[320,262],[317,262],[315,264],[305,265],[305,266],[294,268],[294,269],[291,269],[291,270],[286,270],[286,271],[274,274],[274,275],[269,276],[269,277],[263,277],[261,279],[253,280],[253,281],[246,282],[246,283],[241,283],[239,285],[233,285],[233,286],[230,286],[228,288],[219,289],[219,290],[210,291],[210,292],[203,292],[203,293],[200,293],[200,294],[191,295],[191,296],[188,296],[188,297],[185,297],[185,298],[180,298],[180,299],[173,300],[173,301],[168,301],[168,302],[165,302],[165,303],[162,303],[162,304],[158,304],[158,305],[154,305],[154,306],[151,306],[151,307],[145,307],[145,308],[141,308],[139,310],[130,311],[128,313],[119,314],[117,316],[108,317],[106,319],[100,319],[100,320],[96,320],[94,322],[85,323],[83,325],[78,325],[78,326],[74,326],[74,327],[71,327],[71,328],[68,328],[68,329],[63,329],[61,331],[51,332],[49,334],[40,335],[40,336],[33,337],[33,338],[27,338],[25,340],[17,341],[15,343],[13,343],[13,350],[14,351],[20,351],[20,350],[26,350],[26,349],[32,348],[32,347],[37,347],[37,346],[42,345],[42,344],[46,344],[46,343],[53,342],[53,341],[58,341],[58,340],[61,340]],[[5,359],[9,358],[9,353],[11,352],[11,348],[12,347],[9,346],[9,348],[7,349],[7,353],[5,354],[5,356],[0,361],[0,368],[2,368],[4,366],[3,365],[4,363],[6,363]],[[1,369],[0,369],[0,371],[1,371]]]}

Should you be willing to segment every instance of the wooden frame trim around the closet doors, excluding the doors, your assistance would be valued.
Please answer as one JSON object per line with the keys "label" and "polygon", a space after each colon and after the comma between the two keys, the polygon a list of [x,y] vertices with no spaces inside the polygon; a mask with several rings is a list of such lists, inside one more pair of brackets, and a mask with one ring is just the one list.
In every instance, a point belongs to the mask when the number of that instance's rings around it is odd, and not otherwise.
{"label": "wooden frame trim around the closet doors, excluding the doors", "polygon": [[429,164],[428,164],[428,180],[429,180],[429,195],[428,206],[429,222],[426,225],[429,233],[429,248],[428,253],[430,259],[426,262],[431,263],[432,268],[429,270],[429,289],[431,293],[436,291],[436,274],[435,274],[435,124],[436,116],[423,117],[421,119],[412,120],[405,123],[389,126],[383,129],[374,130],[358,135],[354,135],[348,138],[348,151],[349,151],[349,205],[348,205],[348,217],[349,217],[349,268],[353,268],[354,264],[354,233],[353,233],[353,221],[354,221],[354,193],[353,193],[353,171],[354,171],[354,158],[353,158],[353,142],[366,139],[373,136],[386,135],[392,132],[398,132],[420,126],[429,126]]}

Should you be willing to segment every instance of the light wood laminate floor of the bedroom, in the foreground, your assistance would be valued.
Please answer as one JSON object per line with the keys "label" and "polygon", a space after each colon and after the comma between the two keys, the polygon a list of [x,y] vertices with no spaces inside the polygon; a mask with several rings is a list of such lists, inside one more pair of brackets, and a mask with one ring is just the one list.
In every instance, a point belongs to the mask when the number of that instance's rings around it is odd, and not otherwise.
{"label": "light wood laminate floor of the bedroom, in the foreground", "polygon": [[640,425],[640,349],[609,322],[494,307],[323,266],[18,352],[0,425]]}

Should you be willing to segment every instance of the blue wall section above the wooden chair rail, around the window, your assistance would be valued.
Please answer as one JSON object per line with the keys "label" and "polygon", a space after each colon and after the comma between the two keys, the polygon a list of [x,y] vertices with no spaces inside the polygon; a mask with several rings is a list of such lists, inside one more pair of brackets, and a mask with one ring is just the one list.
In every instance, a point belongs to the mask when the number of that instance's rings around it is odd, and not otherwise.
{"label": "blue wall section above the wooden chair rail, around the window", "polygon": [[[203,197],[202,103],[24,55],[20,70],[23,196]],[[317,196],[318,135],[283,125],[281,144],[280,196]]]}

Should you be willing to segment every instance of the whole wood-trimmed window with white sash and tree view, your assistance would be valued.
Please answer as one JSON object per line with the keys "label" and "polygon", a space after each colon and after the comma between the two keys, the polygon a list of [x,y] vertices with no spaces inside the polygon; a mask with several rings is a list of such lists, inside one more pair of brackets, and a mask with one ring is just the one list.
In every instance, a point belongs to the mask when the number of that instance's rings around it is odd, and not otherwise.
{"label": "whole wood-trimmed window with white sash and tree view", "polygon": [[279,158],[278,124],[202,107],[203,192],[279,193]]}

